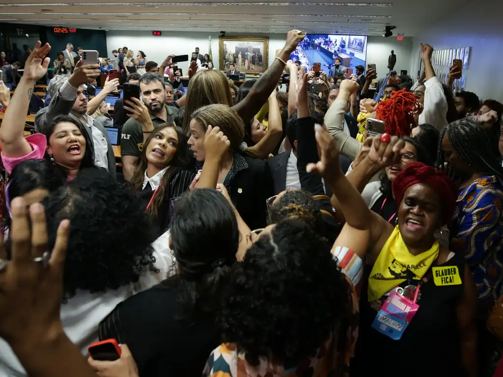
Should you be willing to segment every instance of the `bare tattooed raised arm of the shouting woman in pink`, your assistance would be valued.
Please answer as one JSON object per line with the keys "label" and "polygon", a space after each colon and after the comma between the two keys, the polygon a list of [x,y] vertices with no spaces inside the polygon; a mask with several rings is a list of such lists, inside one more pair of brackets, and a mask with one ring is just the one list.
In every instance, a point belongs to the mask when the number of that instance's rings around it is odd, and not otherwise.
{"label": "bare tattooed raised arm of the shouting woman in pink", "polygon": [[26,60],[23,77],[14,92],[0,127],[2,154],[8,157],[21,157],[32,151],[23,131],[33,88],[37,80],[46,74],[50,62],[50,59],[45,56],[49,53],[51,46],[48,43],[41,45],[38,41]]}

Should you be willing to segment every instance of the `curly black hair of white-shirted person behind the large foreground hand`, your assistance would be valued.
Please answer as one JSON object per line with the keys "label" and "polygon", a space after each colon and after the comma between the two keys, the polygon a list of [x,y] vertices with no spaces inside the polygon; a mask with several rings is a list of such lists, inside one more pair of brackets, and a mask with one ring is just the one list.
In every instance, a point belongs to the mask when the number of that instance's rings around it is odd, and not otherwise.
{"label": "curly black hair of white-shirted person behind the large foreground hand", "polygon": [[102,169],[85,169],[42,202],[49,246],[64,219],[70,220],[64,294],[116,290],[138,281],[153,263],[152,225],[143,203],[126,184]]}

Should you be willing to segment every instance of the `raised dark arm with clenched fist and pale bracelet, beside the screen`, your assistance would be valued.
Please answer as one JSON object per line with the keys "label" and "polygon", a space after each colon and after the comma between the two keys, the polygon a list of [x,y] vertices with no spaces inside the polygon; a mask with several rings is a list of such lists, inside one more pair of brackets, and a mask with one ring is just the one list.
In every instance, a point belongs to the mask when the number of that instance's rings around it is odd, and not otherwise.
{"label": "raised dark arm with clenched fist and pale bracelet, beside the screen", "polygon": [[[276,88],[281,73],[285,67],[290,54],[295,50],[298,43],[304,39],[304,33],[299,30],[291,30],[287,34],[285,46],[278,55],[279,59],[274,59],[266,72],[257,80],[243,101],[233,106],[233,110],[239,114],[243,122],[248,122],[259,112],[266,98]],[[281,59],[281,60],[280,60]]]}

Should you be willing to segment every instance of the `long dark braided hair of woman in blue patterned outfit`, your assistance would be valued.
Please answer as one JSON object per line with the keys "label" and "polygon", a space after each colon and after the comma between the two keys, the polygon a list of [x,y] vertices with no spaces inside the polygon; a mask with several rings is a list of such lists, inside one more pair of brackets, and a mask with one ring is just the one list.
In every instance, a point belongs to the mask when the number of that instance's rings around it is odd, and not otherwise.
{"label": "long dark braided hair of woman in blue patterned outfit", "polygon": [[[444,168],[445,153],[442,149],[442,139],[447,135],[449,143],[456,154],[471,170],[485,175],[495,175],[503,179],[503,167],[499,162],[500,156],[491,148],[491,138],[482,127],[470,119],[461,119],[449,124],[442,130],[437,150],[439,169]],[[454,174],[448,166],[450,175]],[[456,179],[456,183],[459,181]]]}

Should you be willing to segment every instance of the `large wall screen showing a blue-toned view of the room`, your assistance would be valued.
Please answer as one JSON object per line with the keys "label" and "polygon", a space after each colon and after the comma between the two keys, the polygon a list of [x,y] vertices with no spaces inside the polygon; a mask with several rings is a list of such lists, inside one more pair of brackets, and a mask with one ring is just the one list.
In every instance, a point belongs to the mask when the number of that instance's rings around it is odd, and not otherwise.
{"label": "large wall screen showing a blue-toned view of the room", "polygon": [[314,63],[321,63],[321,69],[329,74],[333,60],[339,56],[341,65],[353,68],[365,67],[367,57],[367,37],[361,35],[307,34],[290,55],[293,61],[300,60],[302,65],[311,69]]}

